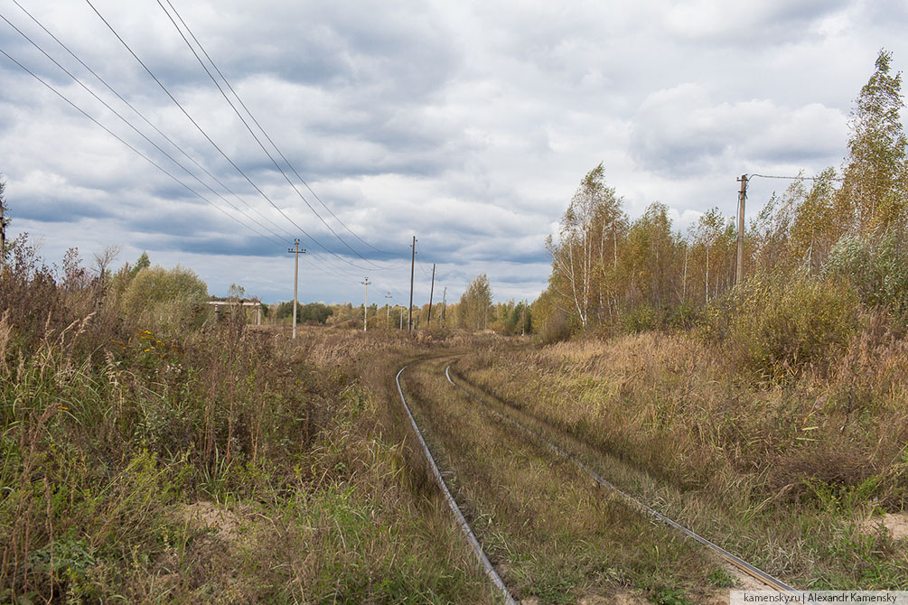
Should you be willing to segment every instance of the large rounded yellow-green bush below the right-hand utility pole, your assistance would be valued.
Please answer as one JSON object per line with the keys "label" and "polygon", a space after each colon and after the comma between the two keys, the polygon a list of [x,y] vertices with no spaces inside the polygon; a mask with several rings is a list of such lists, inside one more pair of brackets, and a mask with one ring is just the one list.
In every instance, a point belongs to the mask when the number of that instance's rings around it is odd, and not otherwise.
{"label": "large rounded yellow-green bush below the right-hand utility pole", "polygon": [[704,330],[737,366],[778,380],[828,366],[854,336],[859,309],[842,280],[760,275],[717,299]]}

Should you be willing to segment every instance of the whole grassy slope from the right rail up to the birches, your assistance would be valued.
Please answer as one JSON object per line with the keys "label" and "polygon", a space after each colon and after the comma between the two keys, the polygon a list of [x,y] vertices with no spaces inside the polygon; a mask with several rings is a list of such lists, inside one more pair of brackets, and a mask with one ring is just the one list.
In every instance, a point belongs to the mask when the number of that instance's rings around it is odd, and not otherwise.
{"label": "whole grassy slope from the right rail up to the birches", "polygon": [[908,547],[873,515],[908,503],[908,348],[864,322],[834,363],[783,379],[689,333],[490,346],[455,367],[799,588],[906,589]]}

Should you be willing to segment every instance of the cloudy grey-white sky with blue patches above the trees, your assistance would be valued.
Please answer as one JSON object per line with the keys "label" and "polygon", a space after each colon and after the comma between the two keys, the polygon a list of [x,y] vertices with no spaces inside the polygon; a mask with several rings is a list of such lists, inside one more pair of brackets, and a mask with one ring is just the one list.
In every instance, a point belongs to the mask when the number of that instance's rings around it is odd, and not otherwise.
{"label": "cloudy grey-white sky with blue patches above the trees", "polygon": [[[632,218],[653,201],[677,229],[734,216],[742,173],[839,167],[880,48],[908,65],[903,0],[171,0],[285,177],[162,1],[170,16],[157,0],[0,0],[0,49],[146,156],[0,54],[10,235],[49,261],[147,250],[269,302],[292,297],[300,238],[302,300],[359,301],[368,276],[370,302],[406,304],[414,235],[414,302],[432,263],[436,299],[480,272],[498,299],[535,298],[544,240],[600,161]],[[785,185],[755,179],[748,216]]]}

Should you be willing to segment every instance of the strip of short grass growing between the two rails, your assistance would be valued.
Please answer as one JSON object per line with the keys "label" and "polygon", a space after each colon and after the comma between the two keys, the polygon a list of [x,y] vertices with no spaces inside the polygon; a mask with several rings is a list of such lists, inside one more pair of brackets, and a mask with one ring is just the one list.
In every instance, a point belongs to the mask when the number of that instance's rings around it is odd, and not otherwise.
{"label": "strip of short grass growing between the two rails", "polygon": [[651,522],[449,385],[448,362],[408,368],[404,389],[455,498],[515,598],[715,602],[719,588],[733,585],[695,542]]}

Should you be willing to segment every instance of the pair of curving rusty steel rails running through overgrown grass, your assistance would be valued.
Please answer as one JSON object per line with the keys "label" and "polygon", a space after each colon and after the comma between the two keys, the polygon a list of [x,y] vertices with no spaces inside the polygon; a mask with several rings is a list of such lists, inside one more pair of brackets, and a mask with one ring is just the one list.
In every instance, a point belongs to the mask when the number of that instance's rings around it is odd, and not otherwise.
{"label": "pair of curving rusty steel rails running through overgrown grass", "polygon": [[[466,517],[464,516],[463,512],[460,510],[458,503],[455,501],[454,497],[451,495],[449,487],[448,487],[447,483],[445,482],[445,479],[444,479],[442,473],[439,471],[439,466],[438,466],[438,464],[436,464],[433,455],[429,451],[429,447],[426,444],[425,439],[423,438],[422,430],[420,429],[419,424],[417,424],[416,418],[414,417],[414,415],[410,409],[410,405],[407,402],[407,398],[404,395],[403,387],[400,384],[400,376],[403,374],[404,370],[407,369],[407,367],[408,366],[404,366],[404,367],[400,368],[400,372],[398,372],[398,375],[396,376],[398,392],[400,394],[400,401],[406,411],[407,416],[410,418],[410,424],[419,440],[420,448],[422,449],[422,454],[425,456],[425,458],[429,462],[429,467],[434,476],[434,480],[436,483],[439,484],[439,488],[440,488],[441,492],[444,494],[445,500],[448,503],[449,507],[451,508],[451,511],[453,512],[455,518],[457,519],[461,530],[464,532],[472,550],[475,553],[477,560],[479,561],[479,563],[482,566],[483,570],[485,571],[486,575],[489,577],[489,581],[491,581],[495,585],[496,590],[498,591],[498,594],[500,595],[500,598],[503,599],[503,602],[506,602],[506,603],[516,603],[517,601],[514,600],[514,597],[511,595],[510,591],[508,590],[507,585],[502,580],[501,576],[498,574],[498,571],[496,571],[495,568],[492,566],[491,562],[489,561],[489,557],[483,551],[482,546],[480,545],[476,534],[473,532],[472,528],[469,525],[469,522],[467,522]],[[517,429],[517,431],[520,432],[521,434],[527,435],[531,441],[535,442],[539,447],[544,448],[543,451],[548,450],[552,454],[556,454],[559,458],[561,458],[563,461],[565,461],[566,464],[573,465],[574,467],[576,467],[576,470],[578,473],[581,473],[583,475],[586,475],[587,477],[592,478],[599,486],[601,486],[602,488],[605,488],[607,491],[609,491],[611,493],[614,493],[617,496],[617,498],[619,498],[623,502],[627,503],[627,505],[630,508],[636,509],[637,511],[644,513],[646,516],[654,518],[654,519],[658,520],[659,522],[665,523],[667,526],[670,526],[671,528],[673,528],[676,532],[680,532],[681,534],[685,535],[686,538],[688,538],[688,539],[699,542],[700,544],[705,546],[710,551],[715,552],[716,555],[722,561],[725,561],[726,563],[734,566],[736,569],[740,570],[747,576],[750,576],[750,577],[754,578],[756,581],[759,581],[765,587],[773,589],[773,590],[780,590],[780,591],[795,591],[795,589],[793,587],[785,584],[785,582],[780,581],[780,580],[776,579],[775,577],[771,576],[770,574],[766,573],[765,571],[762,571],[762,570],[756,568],[754,565],[751,565],[750,563],[742,560],[741,558],[737,557],[735,554],[733,554],[729,551],[725,551],[725,549],[721,548],[716,543],[707,540],[706,538],[700,536],[696,532],[693,532],[693,531],[687,529],[686,527],[684,527],[683,525],[668,518],[665,514],[656,511],[656,509],[654,509],[650,506],[647,506],[645,503],[640,502],[637,498],[631,496],[629,493],[625,493],[622,490],[618,489],[614,483],[607,481],[606,478],[604,478],[601,474],[599,474],[595,470],[593,470],[588,464],[585,464],[584,462],[579,460],[576,456],[569,454],[565,450],[561,449],[560,447],[558,447],[558,445],[551,443],[550,441],[548,441],[548,439],[543,437],[542,434],[539,434],[537,431],[534,431],[532,428],[529,428],[528,426],[519,423],[518,421],[514,420],[513,418],[508,417],[508,415],[501,414],[500,412],[498,412],[497,409],[495,409],[495,406],[493,404],[491,404],[489,401],[483,400],[482,397],[474,394],[473,392],[471,392],[469,389],[465,388],[464,386],[459,385],[456,382],[454,382],[453,378],[450,376],[450,365],[449,364],[447,364],[444,368],[444,376],[447,379],[447,383],[449,384],[450,388],[456,389],[457,392],[459,393],[459,395],[465,397],[465,399],[462,401],[470,400],[475,403],[479,403],[479,405],[481,405],[483,410],[487,411],[489,414],[494,415],[499,420],[503,421],[503,424],[508,424],[513,429]],[[477,388],[475,385],[470,385],[470,386],[472,386],[474,389]],[[480,394],[481,394],[481,391],[480,391]],[[481,395],[484,395],[484,394],[481,394]]]}

